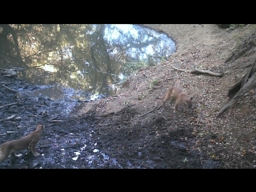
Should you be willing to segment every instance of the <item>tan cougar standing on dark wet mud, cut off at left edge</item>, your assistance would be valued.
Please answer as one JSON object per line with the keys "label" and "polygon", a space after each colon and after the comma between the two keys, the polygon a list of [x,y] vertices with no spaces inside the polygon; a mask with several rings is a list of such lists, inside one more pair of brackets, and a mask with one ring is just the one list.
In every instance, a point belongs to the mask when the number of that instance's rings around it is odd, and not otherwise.
{"label": "tan cougar standing on dark wet mud, cut off at left edge", "polygon": [[38,125],[36,130],[30,132],[30,134],[25,137],[2,143],[2,145],[0,145],[0,162],[9,156],[12,158],[22,156],[22,154],[15,154],[15,151],[25,150],[26,147],[32,151],[35,157],[40,155],[36,152],[35,145],[38,143],[44,128],[45,126]]}

